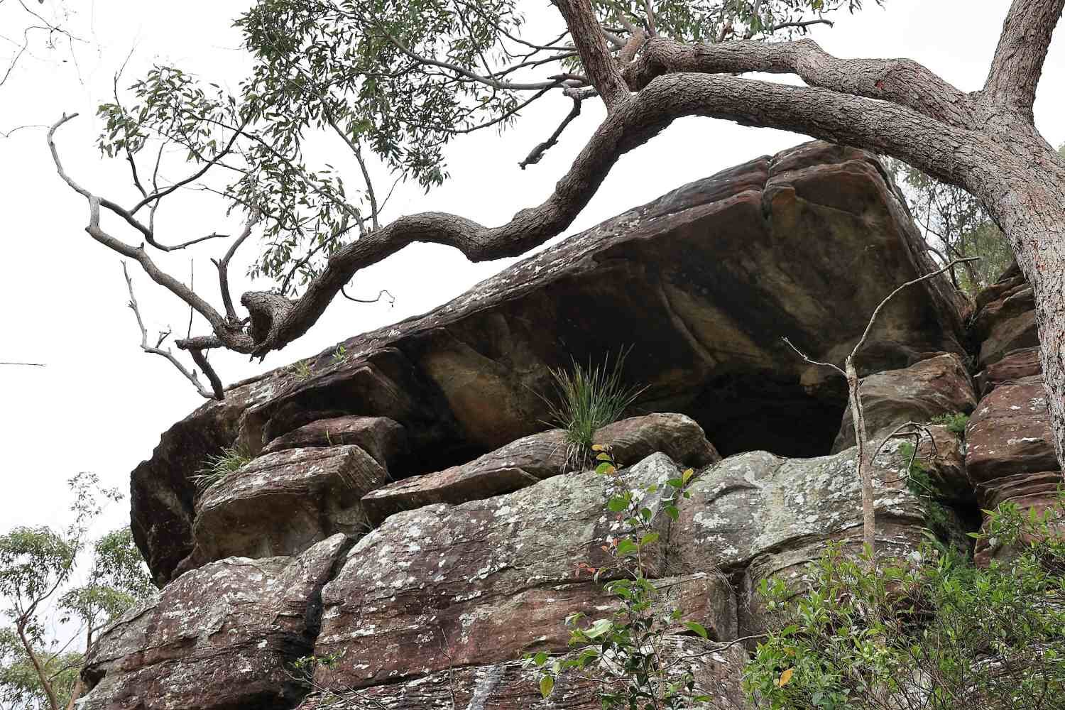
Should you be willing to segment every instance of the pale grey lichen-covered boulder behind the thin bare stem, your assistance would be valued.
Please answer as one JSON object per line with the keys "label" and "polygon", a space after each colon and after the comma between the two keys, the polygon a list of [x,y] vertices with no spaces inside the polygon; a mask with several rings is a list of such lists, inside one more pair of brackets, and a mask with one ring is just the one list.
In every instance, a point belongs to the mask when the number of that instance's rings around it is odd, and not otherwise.
{"label": "pale grey lichen-covered boulder behind the thin bare stem", "polygon": [[[913,554],[928,525],[924,505],[906,488],[898,449],[892,442],[874,461],[876,552],[886,558]],[[742,453],[705,470],[690,486],[691,498],[670,531],[676,568],[719,568],[739,579],[741,634],[766,630],[763,580],[781,578],[798,592],[807,565],[829,543],[861,550],[856,451],[814,459]]]}

